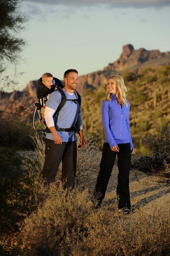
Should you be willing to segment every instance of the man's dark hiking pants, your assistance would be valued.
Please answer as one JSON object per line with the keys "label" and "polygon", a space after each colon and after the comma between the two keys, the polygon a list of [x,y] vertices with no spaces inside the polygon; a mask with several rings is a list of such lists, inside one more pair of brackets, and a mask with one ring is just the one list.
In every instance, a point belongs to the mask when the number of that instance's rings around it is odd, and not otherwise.
{"label": "man's dark hiking pants", "polygon": [[76,141],[62,142],[62,145],[58,145],[54,140],[46,139],[43,179],[47,185],[55,180],[61,160],[64,188],[73,188],[77,161]]}

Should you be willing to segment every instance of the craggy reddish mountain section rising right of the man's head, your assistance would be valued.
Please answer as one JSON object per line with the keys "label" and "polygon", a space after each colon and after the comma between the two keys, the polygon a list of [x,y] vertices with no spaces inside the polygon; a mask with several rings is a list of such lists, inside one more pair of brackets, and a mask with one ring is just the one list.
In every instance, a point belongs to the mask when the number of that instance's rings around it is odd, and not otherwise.
{"label": "craggy reddish mountain section rising right of the man's head", "polygon": [[148,51],[144,48],[134,50],[133,45],[127,44],[123,46],[120,58],[109,63],[104,70],[80,76],[79,91],[98,88],[100,84],[105,84],[112,74],[122,74],[124,71],[137,74],[143,67],[158,68],[162,65],[170,65],[170,52]]}

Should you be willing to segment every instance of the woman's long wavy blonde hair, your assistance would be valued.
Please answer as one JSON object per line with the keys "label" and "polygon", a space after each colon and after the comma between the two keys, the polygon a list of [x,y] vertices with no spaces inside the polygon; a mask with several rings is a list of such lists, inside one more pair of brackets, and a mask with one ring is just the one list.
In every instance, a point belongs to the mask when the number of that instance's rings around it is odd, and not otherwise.
{"label": "woman's long wavy blonde hair", "polygon": [[[123,77],[119,76],[119,75],[114,75],[114,76],[110,76],[108,78],[108,80],[109,79],[113,79],[117,84],[118,92],[117,92],[116,96],[117,96],[117,100],[118,100],[119,105],[124,104],[126,107],[128,107],[128,103],[126,102],[126,97],[127,97],[128,90],[125,86]],[[112,100],[112,93],[108,92],[107,89],[106,89],[106,100],[109,100],[109,101]]]}

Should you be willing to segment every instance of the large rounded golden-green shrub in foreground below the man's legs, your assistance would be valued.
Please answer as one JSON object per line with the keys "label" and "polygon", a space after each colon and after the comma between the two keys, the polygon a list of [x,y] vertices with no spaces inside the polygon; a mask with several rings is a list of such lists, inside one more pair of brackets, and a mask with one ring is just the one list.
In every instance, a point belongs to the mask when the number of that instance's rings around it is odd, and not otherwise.
{"label": "large rounded golden-green shrub in foreground below the man's legs", "polygon": [[76,189],[63,190],[61,184],[58,187],[52,183],[43,206],[25,220],[23,242],[36,248],[49,246],[69,251],[85,231],[83,223],[91,210],[87,190],[82,193]]}

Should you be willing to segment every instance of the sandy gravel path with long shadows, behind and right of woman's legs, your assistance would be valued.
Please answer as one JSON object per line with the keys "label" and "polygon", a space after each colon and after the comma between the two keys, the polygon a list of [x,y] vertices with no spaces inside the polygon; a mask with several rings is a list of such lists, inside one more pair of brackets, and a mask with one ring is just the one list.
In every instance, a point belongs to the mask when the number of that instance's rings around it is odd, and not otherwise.
{"label": "sandy gravel path with long shadows, behind and right of woman's legs", "polygon": [[[106,206],[114,204],[116,200],[116,187],[117,187],[117,161],[115,161],[112,175],[109,180],[106,195],[102,205]],[[97,173],[93,174],[93,178],[83,185],[83,188],[88,188],[92,196],[94,187],[97,180]],[[129,188],[131,198],[131,210],[135,209],[162,207],[162,210],[168,209],[170,205],[170,182],[166,183],[164,177],[144,173],[137,169],[131,169],[129,175]]]}

